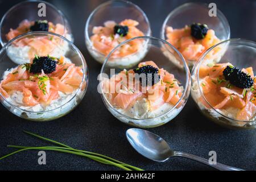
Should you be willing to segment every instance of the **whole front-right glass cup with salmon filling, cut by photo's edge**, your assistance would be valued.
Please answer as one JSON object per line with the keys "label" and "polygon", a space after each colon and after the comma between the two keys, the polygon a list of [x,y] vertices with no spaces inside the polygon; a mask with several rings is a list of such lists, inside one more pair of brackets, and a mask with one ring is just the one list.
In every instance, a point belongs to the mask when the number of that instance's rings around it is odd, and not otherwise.
{"label": "whole front-right glass cup with salmon filling, cut by photo's edge", "polygon": [[[212,61],[214,53],[223,47],[224,54],[216,59],[217,62]],[[255,42],[229,39],[208,49],[200,57],[192,71],[191,94],[199,110],[206,117],[226,127],[255,128],[254,85],[247,89],[238,88],[232,84],[230,78],[226,78],[233,71],[227,76],[224,75],[225,68],[236,67],[254,80],[255,56]]]}

